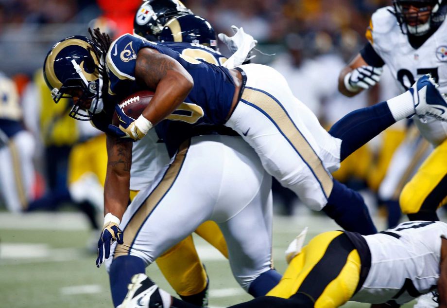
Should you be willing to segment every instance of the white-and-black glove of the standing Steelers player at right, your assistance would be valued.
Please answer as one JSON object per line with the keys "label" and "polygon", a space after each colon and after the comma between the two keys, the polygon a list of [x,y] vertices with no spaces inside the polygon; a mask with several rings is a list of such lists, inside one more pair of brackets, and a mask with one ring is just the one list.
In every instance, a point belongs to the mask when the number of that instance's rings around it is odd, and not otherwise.
{"label": "white-and-black glove of the standing Steelers player at right", "polygon": [[358,67],[344,76],[344,86],[350,92],[369,89],[378,83],[382,72],[383,69],[381,67],[373,67],[370,65]]}

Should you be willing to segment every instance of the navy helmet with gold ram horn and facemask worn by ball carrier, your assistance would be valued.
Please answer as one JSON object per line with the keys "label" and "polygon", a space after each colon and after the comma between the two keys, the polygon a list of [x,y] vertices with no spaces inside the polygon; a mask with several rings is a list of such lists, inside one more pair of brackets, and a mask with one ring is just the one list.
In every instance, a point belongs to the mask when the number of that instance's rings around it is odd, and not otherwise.
{"label": "navy helmet with gold ram horn and facemask worn by ball carrier", "polygon": [[[69,36],[54,44],[45,58],[43,74],[52,98],[79,99],[69,115],[77,120],[90,120],[103,110],[102,88],[104,55],[86,36]],[[85,110],[85,102],[91,101]]]}

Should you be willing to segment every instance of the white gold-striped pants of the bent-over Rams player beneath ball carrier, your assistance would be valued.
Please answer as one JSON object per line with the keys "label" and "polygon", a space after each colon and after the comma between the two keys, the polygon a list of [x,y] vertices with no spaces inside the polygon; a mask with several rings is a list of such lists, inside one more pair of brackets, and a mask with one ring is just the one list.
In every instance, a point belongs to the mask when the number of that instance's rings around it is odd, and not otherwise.
{"label": "white gold-striped pants of the bent-over Rams player beneath ball carrier", "polygon": [[124,244],[114,245],[114,258],[134,255],[149,265],[214,220],[224,234],[232,272],[248,290],[272,268],[271,181],[241,137],[193,137],[127,208],[120,224]]}

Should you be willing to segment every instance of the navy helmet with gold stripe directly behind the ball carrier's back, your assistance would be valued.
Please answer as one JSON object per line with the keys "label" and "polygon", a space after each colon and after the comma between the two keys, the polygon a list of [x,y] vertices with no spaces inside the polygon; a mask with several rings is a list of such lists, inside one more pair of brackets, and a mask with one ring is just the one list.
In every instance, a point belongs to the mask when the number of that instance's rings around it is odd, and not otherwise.
{"label": "navy helmet with gold stripe directly behind the ball carrier's back", "polygon": [[208,20],[197,15],[172,18],[160,33],[161,42],[188,42],[217,49],[216,33]]}

